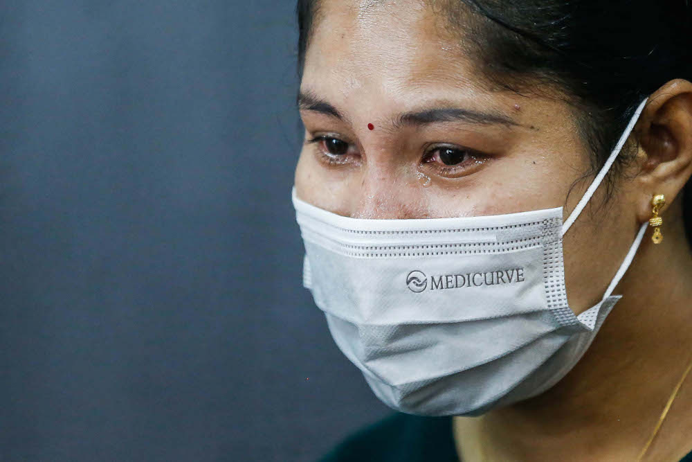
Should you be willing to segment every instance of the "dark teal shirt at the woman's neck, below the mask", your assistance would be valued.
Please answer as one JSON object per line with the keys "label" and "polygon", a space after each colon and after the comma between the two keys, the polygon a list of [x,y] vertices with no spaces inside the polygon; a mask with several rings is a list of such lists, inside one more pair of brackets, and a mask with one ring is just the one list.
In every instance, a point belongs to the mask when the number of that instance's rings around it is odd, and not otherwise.
{"label": "dark teal shirt at the woman's neck, below the mask", "polygon": [[[459,462],[451,417],[397,413],[361,429],[320,462]],[[680,462],[692,462],[692,452]]]}

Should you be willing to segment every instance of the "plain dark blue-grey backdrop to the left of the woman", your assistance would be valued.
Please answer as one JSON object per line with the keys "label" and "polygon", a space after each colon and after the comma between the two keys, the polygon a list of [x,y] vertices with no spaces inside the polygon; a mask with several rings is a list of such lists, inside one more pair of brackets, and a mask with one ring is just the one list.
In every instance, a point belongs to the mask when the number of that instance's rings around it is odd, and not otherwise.
{"label": "plain dark blue-grey backdrop to the left of the woman", "polygon": [[300,286],[294,1],[0,4],[0,460],[310,461],[388,413]]}

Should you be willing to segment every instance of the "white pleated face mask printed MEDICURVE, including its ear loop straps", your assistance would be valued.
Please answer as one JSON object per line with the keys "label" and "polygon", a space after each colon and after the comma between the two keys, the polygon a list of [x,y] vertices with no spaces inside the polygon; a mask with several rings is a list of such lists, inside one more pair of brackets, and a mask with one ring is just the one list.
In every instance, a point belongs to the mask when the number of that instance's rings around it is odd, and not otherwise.
{"label": "white pleated face mask printed MEDICURVE, including its ear loop straps", "polygon": [[334,341],[386,405],[409,414],[478,415],[561,380],[621,296],[575,316],[567,305],[563,235],[635,125],[563,224],[563,209],[480,217],[362,220],[298,199],[304,286]]}

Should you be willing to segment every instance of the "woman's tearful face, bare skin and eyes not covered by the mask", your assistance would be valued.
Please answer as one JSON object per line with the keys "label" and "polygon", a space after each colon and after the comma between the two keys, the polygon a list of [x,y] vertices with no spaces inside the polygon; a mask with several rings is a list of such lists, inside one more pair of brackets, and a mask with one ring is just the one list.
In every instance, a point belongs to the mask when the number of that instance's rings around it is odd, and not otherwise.
{"label": "woman's tearful face, bare skin and eyes not covered by the mask", "polygon": [[[368,3],[325,0],[313,24],[300,85],[298,197],[359,218],[565,205],[566,219],[588,182],[565,202],[570,186],[590,168],[567,105],[487,89],[464,38],[446,35],[444,19],[424,3]],[[565,236],[577,313],[600,300],[637,229],[634,207],[624,205],[628,190],[620,191],[593,216],[586,208]]]}

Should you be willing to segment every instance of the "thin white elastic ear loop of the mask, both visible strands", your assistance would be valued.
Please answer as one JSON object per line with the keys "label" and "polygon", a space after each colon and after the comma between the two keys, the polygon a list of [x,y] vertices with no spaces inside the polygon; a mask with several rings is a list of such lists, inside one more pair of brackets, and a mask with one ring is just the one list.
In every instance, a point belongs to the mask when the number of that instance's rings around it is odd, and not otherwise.
{"label": "thin white elastic ear loop of the mask, both visible strands", "polygon": [[[581,211],[583,211],[584,207],[589,202],[589,199],[591,199],[591,197],[596,192],[597,188],[601,185],[601,181],[603,181],[603,178],[605,178],[605,175],[608,173],[608,170],[610,170],[610,167],[612,166],[613,162],[617,158],[617,155],[620,153],[620,150],[622,149],[623,145],[625,144],[625,141],[627,141],[628,136],[630,136],[632,129],[635,127],[635,123],[637,123],[637,120],[639,119],[639,116],[641,115],[641,111],[644,109],[644,105],[646,105],[647,100],[648,100],[648,98],[644,98],[644,100],[641,103],[639,103],[639,107],[637,107],[635,114],[632,115],[632,118],[630,119],[630,123],[627,124],[627,127],[626,127],[625,131],[622,133],[622,135],[620,136],[620,139],[617,142],[617,145],[615,145],[614,150],[612,150],[612,152],[610,153],[610,157],[608,157],[608,160],[605,161],[603,168],[601,168],[601,171],[599,172],[598,175],[596,175],[596,178],[594,178],[594,181],[589,186],[588,190],[586,190],[586,193],[583,195],[583,197],[579,201],[579,204],[576,204],[576,207],[574,207],[574,210],[572,211],[572,213],[570,213],[570,217],[567,218],[567,221],[565,221],[565,223],[563,224],[563,229],[562,229],[563,236],[565,236],[565,233],[567,233],[567,230],[570,229],[570,226],[572,226],[572,224],[574,224],[574,221],[576,220],[577,217],[579,217],[579,214],[581,213]],[[643,224],[641,224],[641,227],[639,228],[639,232],[637,233],[637,237],[635,238],[635,242],[632,242],[632,246],[630,247],[630,250],[627,252],[625,259],[622,261],[622,264],[620,265],[619,269],[617,270],[617,273],[615,273],[615,276],[612,278],[612,281],[610,281],[610,285],[608,285],[608,289],[605,290],[605,294],[603,295],[603,299],[607,299],[610,296],[610,294],[612,294],[612,291],[615,289],[615,286],[617,286],[617,284],[620,282],[620,279],[622,278],[622,276],[627,271],[628,267],[630,267],[630,263],[632,263],[632,260],[635,259],[635,254],[637,254],[637,249],[639,249],[639,245],[641,244],[641,240],[644,238],[644,233],[646,233],[647,226],[648,226],[647,222],[644,222]]]}

